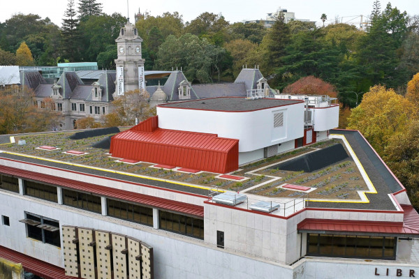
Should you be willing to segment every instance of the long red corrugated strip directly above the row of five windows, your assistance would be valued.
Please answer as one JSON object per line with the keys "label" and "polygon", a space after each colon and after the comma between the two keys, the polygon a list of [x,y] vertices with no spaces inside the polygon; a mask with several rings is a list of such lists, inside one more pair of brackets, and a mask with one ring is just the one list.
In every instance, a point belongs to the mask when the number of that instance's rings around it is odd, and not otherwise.
{"label": "long red corrugated strip directly above the row of five windows", "polygon": [[108,188],[105,186],[98,186],[96,184],[76,181],[72,179],[64,179],[59,176],[40,174],[38,172],[30,172],[23,169],[15,169],[13,167],[0,166],[0,172],[4,174],[11,174],[14,176],[22,177],[24,179],[32,179],[35,181],[50,183],[52,185],[63,186],[74,190],[80,190],[95,195],[124,199],[128,202],[137,202],[139,204],[145,204],[147,206],[152,206],[160,209],[182,212],[192,216],[204,216],[204,207],[195,204],[176,202],[170,199],[162,199],[161,197],[142,195],[138,193],[128,192],[125,190]]}

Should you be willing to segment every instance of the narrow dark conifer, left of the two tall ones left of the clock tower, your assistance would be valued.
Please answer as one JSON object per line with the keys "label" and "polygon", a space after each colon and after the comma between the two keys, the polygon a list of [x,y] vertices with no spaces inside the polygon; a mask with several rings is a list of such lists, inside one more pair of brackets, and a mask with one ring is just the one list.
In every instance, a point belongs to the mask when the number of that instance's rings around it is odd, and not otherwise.
{"label": "narrow dark conifer, left of the two tall ones left of the clock tower", "polygon": [[63,50],[64,56],[70,61],[78,59],[78,24],[79,20],[76,17],[74,0],[68,0],[67,9],[64,13],[63,19]]}

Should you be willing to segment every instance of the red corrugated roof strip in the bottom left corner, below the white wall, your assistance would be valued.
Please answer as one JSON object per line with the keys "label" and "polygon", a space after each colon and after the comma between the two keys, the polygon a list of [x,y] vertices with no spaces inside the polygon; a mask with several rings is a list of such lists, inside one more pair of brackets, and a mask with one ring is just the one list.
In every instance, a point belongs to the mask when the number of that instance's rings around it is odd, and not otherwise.
{"label": "red corrugated roof strip in the bottom left corner, below the white wall", "polygon": [[66,276],[64,269],[53,264],[48,264],[34,257],[29,257],[15,250],[0,246],[0,257],[10,262],[22,264],[24,271],[34,273],[45,279],[72,279],[76,277]]}

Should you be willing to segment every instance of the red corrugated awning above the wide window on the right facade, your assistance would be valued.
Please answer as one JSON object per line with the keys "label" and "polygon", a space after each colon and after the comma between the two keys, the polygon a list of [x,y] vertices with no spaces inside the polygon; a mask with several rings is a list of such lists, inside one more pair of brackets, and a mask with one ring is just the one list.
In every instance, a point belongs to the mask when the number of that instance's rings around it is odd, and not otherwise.
{"label": "red corrugated awning above the wide window on the right facade", "polygon": [[315,234],[419,236],[419,214],[410,205],[402,205],[402,209],[404,210],[403,222],[305,219],[297,225],[297,229],[298,232]]}

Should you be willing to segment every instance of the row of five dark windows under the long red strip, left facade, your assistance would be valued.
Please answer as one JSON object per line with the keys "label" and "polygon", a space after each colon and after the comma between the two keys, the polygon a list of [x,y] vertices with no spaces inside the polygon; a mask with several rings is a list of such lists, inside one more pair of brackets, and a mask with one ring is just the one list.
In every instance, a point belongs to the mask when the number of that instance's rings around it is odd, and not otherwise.
{"label": "row of five dark windows under the long red strip, left facade", "polygon": [[[23,181],[24,195],[58,202],[57,187],[34,181]],[[19,193],[17,178],[0,175],[0,188]],[[101,197],[74,190],[62,189],[63,204],[101,213]],[[108,216],[128,220],[133,223],[153,226],[153,209],[147,206],[131,204],[117,199],[106,199]],[[204,221],[202,219],[184,216],[167,211],[159,211],[159,227],[161,229],[204,239]]]}

